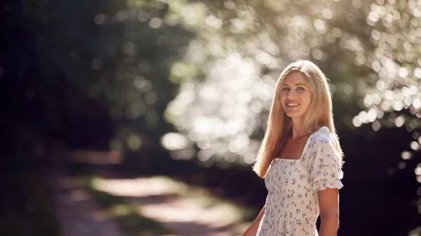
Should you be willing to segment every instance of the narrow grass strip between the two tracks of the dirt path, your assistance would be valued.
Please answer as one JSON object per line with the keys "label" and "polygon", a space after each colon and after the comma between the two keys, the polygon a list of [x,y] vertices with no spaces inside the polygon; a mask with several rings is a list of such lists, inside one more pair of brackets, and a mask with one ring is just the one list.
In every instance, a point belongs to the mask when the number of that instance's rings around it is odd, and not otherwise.
{"label": "narrow grass strip between the two tracks of the dirt path", "polygon": [[113,218],[119,224],[119,228],[124,234],[129,236],[171,235],[171,230],[165,228],[161,223],[142,216],[138,211],[138,204],[133,204],[124,197],[95,189],[93,183],[99,177],[95,176],[89,166],[75,166],[72,168],[72,174],[81,180],[83,187],[88,190],[93,200],[106,211],[107,217]]}

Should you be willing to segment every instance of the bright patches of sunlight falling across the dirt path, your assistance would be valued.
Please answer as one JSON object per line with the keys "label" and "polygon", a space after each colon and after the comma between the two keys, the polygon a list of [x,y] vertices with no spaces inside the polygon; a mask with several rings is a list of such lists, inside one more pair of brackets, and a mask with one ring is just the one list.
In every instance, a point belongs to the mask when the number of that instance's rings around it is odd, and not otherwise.
{"label": "bright patches of sunlight falling across the dirt path", "polygon": [[[195,222],[219,228],[243,220],[248,209],[236,206],[213,197],[208,190],[187,186],[185,183],[166,177],[138,179],[101,179],[91,181],[95,190],[103,191],[119,197],[148,197],[159,195],[174,195],[170,201],[142,202],[138,205],[139,214],[161,222]],[[206,209],[206,211],[203,211]],[[109,210],[114,216],[130,213],[130,209],[119,204]]]}

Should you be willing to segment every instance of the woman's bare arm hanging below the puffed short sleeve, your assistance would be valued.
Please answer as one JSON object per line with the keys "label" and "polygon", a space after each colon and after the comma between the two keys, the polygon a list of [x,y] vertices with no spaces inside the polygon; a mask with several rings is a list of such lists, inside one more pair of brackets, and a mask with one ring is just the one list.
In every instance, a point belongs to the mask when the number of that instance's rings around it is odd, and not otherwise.
{"label": "woman's bare arm hanging below the puffed short sleeve", "polygon": [[320,236],[336,236],[339,228],[338,188],[326,188],[317,192],[320,208]]}

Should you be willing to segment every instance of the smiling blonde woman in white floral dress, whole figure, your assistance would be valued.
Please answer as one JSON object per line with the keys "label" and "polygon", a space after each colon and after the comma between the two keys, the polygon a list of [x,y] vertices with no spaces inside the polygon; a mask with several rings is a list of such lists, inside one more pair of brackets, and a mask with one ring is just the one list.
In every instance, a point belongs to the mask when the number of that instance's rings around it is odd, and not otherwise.
{"label": "smiling blonde woman in white floral dress, whole figure", "polygon": [[268,195],[244,236],[336,235],[342,149],[328,79],[314,63],[293,62],[279,76],[253,170]]}

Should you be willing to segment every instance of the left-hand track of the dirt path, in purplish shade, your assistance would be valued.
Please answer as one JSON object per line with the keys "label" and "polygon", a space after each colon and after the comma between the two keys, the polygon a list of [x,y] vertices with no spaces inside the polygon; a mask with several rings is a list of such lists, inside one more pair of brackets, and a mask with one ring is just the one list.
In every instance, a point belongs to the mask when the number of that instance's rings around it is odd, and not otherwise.
{"label": "left-hand track of the dirt path, in purplish shade", "polygon": [[62,227],[60,236],[125,236],[64,169],[48,167],[44,176]]}

